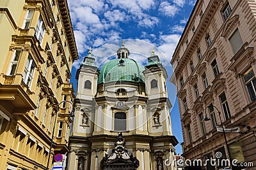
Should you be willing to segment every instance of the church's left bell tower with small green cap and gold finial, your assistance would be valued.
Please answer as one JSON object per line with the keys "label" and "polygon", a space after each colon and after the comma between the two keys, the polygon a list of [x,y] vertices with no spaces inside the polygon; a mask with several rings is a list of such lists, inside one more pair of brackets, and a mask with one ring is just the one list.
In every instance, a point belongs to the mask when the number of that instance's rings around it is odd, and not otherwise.
{"label": "church's left bell tower with small green cap and gold finial", "polygon": [[73,122],[73,134],[88,136],[92,131],[92,121],[95,111],[94,96],[97,92],[97,81],[99,76],[98,67],[95,66],[95,59],[92,57],[92,48],[89,48],[88,55],[84,57],[83,63],[77,69],[77,93],[76,93],[76,118]]}

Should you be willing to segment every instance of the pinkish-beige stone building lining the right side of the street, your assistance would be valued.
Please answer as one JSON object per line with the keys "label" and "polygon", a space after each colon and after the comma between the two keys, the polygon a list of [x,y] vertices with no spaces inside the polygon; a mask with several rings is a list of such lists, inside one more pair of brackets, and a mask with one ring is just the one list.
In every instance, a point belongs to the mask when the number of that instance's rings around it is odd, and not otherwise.
{"label": "pinkish-beige stone building lining the right side of the street", "polygon": [[[185,159],[253,162],[256,168],[256,1],[198,0],[173,54]],[[226,133],[239,127],[241,133]],[[207,107],[209,106],[209,107]],[[205,122],[205,111],[210,121]],[[223,169],[228,166],[204,166]],[[203,167],[198,167],[201,169]],[[233,167],[245,169],[246,167]]]}

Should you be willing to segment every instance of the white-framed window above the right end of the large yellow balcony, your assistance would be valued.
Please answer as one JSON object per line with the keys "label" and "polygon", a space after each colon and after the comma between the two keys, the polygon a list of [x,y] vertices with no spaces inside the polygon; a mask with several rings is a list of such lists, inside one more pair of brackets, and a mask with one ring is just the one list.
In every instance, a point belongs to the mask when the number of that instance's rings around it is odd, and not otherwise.
{"label": "white-framed window above the right end of the large yellow balcony", "polygon": [[28,60],[26,62],[25,70],[23,73],[23,81],[28,87],[30,87],[31,82],[33,80],[35,71],[35,62],[33,61],[32,57],[28,55]]}

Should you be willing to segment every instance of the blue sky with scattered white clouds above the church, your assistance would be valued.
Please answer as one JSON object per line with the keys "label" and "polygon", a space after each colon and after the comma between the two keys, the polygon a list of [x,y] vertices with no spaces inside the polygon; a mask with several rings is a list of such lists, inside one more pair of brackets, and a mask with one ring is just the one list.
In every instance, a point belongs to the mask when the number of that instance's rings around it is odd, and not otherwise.
{"label": "blue sky with scattered white clouds above the church", "polygon": [[[97,66],[113,59],[118,46],[122,45],[122,39],[125,39],[125,46],[133,54],[131,58],[141,64],[146,63],[147,56],[154,47],[168,72],[168,94],[173,104],[173,134],[181,143],[183,139],[179,106],[175,100],[176,89],[169,82],[173,73],[170,60],[195,1],[68,0],[79,52],[79,60],[72,67],[71,81],[74,88],[76,89],[76,70],[88,54],[90,46]],[[180,145],[176,146],[176,152],[182,153]]]}

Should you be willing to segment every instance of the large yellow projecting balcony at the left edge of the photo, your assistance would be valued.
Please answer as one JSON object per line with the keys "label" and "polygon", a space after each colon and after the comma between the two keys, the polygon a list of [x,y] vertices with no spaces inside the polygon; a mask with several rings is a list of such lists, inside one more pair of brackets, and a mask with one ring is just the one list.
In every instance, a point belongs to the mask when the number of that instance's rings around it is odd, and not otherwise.
{"label": "large yellow projecting balcony at the left edge of the photo", "polygon": [[22,74],[0,75],[0,103],[10,113],[22,115],[35,110],[36,105],[30,99],[32,94],[22,81]]}

